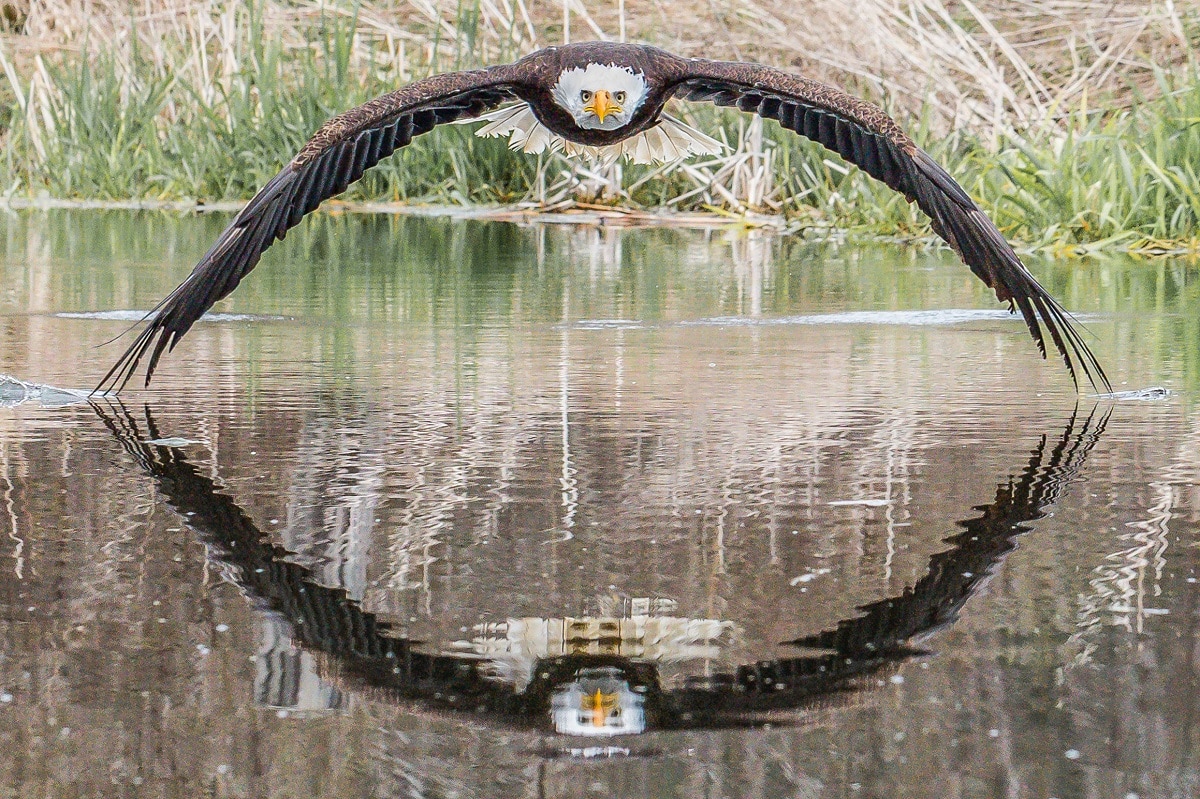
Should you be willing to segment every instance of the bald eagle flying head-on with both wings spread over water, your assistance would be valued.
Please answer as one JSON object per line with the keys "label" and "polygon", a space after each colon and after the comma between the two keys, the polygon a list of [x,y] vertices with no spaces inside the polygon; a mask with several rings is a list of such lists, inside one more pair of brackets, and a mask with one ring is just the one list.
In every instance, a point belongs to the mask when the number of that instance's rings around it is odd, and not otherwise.
{"label": "bald eagle flying head-on with both wings spread over water", "polygon": [[[437,74],[352,108],[324,125],[234,217],[100,382],[120,391],[149,353],[145,384],[164,352],[236,288],[263,251],[362,173],[445,122],[481,120],[484,136],[510,136],[529,152],[674,161],[719,144],[664,113],[672,97],[734,106],[776,120],[857,164],[914,202],[997,299],[1019,310],[1042,356],[1045,334],[1072,379],[1111,390],[1067,311],[1021,264],[971,197],[876,106],[756,64],[684,59],[640,44],[581,42],[485,70]],[[515,104],[509,106],[510,102]],[[1043,330],[1044,329],[1044,330]]]}

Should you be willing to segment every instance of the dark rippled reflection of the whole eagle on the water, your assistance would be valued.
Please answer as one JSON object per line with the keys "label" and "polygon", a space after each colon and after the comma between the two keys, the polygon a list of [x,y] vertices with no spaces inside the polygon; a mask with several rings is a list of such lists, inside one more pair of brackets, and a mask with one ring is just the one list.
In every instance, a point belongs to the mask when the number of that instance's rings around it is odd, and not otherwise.
{"label": "dark rippled reflection of the whole eagle on the water", "polygon": [[[862,615],[833,630],[788,642],[796,657],[709,672],[667,690],[659,666],[710,657],[724,623],[637,613],[510,619],[482,625],[484,635],[462,651],[421,651],[418,642],[389,635],[344,590],[316,582],[182,450],[148,443],[162,440],[149,411],[142,431],[124,407],[96,409],[224,572],[252,601],[287,621],[293,643],[336,673],[341,686],[428,710],[580,737],[796,721],[832,697],[878,685],[920,653],[916,642],[954,621],[1025,524],[1040,518],[1072,482],[1108,421],[1108,414],[1097,419],[1093,410],[1084,420],[1072,415],[1055,439],[1043,435],[1028,462],[990,504],[976,509],[977,516],[959,523],[962,530],[947,539],[949,548],[931,557],[925,577],[902,594],[860,608]],[[526,643],[515,647],[514,636]]]}

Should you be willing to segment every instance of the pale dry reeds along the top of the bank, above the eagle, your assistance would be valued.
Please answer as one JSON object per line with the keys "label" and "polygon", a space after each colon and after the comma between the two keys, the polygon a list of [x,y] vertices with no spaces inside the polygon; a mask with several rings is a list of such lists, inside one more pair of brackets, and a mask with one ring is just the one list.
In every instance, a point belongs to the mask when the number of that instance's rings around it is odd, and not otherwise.
{"label": "pale dry reeds along the top of the bank, above the eagle", "polygon": [[[10,0],[18,61],[128,53],[212,84],[236,68],[236,2]],[[516,58],[575,38],[660,44],[684,55],[749,59],[854,84],[901,113],[979,134],[1054,124],[1085,98],[1153,94],[1184,64],[1200,6],[1172,0],[299,0],[262,5],[264,32],[311,47],[331,14],[354,17],[354,61],[396,80]],[[22,58],[24,56],[24,58]],[[1096,102],[1092,100],[1091,102]]]}

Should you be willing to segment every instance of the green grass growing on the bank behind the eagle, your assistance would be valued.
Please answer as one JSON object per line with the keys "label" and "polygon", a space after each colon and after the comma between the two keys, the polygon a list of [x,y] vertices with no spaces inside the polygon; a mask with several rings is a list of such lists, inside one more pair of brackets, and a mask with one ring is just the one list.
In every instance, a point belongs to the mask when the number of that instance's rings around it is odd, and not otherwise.
{"label": "green grass growing on the bank behind the eagle", "polygon": [[[136,40],[127,53],[90,46],[82,58],[58,66],[43,62],[32,76],[10,70],[0,82],[12,102],[0,160],[4,185],[64,198],[246,198],[323,120],[400,83],[395,61],[373,65],[367,52],[368,68],[362,68],[358,12],[322,16],[306,34],[306,47],[286,47],[278,32],[268,32],[274,30],[264,22],[268,8],[251,4],[230,28],[232,36],[217,32],[222,52],[205,70],[191,62],[188,68],[164,68],[166,55],[139,50]],[[440,68],[473,64],[472,31],[479,28],[478,4],[462,4],[452,44],[436,37],[428,42]],[[518,54],[514,41],[506,47],[493,54]],[[917,138],[1014,238],[1039,245],[1194,250],[1200,80],[1162,74],[1159,89],[1159,97],[1112,113],[1096,113],[1085,100],[1064,125],[1042,128],[1027,140],[1001,136],[998,155],[967,136]],[[924,217],[902,198],[822,148],[781,133],[774,124],[758,138],[736,113],[696,107],[695,118],[731,143],[770,152],[774,180],[767,184],[776,187],[773,194],[744,172],[737,178],[726,170],[720,179],[738,202],[766,192],[770,203],[818,224],[928,235]],[[728,158],[744,155],[743,149]],[[552,202],[577,190],[600,191],[580,186],[578,174],[570,174],[574,168],[557,156],[512,155],[503,142],[479,139],[464,128],[439,130],[385,160],[344,197],[479,204]],[[710,166],[713,173],[721,173],[720,163]],[[623,168],[620,181],[634,187],[623,203],[728,204],[720,192],[694,193],[695,175],[677,170],[643,181],[648,175],[644,167]],[[608,179],[614,180],[612,174]]]}

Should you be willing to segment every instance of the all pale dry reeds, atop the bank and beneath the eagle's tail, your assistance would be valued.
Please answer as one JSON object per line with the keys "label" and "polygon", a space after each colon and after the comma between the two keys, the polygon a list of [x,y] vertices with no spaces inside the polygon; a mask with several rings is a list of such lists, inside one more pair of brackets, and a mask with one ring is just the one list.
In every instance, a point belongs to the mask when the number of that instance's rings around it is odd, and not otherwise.
{"label": "all pale dry reeds, atop the bank and beneath the eagle's tail", "polygon": [[[131,92],[155,80],[187,86],[163,103],[166,130],[193,95],[221,108],[245,80],[254,53],[247,37],[277,41],[283,59],[319,60],[331,19],[353,25],[344,65],[372,85],[511,60],[572,37],[628,38],[799,70],[883,103],[926,139],[961,131],[992,149],[1030,131],[1063,134],[1080,108],[1154,95],[1163,72],[1192,65],[1200,30],[1200,6],[1171,0],[262,0],[252,11],[197,0],[6,2],[0,100],[13,100],[43,161],[55,126],[48,65],[103,53]],[[778,211],[773,142],[757,122],[725,134],[728,152],[680,167],[665,202]],[[620,164],[554,157],[526,199],[619,202],[652,176],[624,185]]]}

